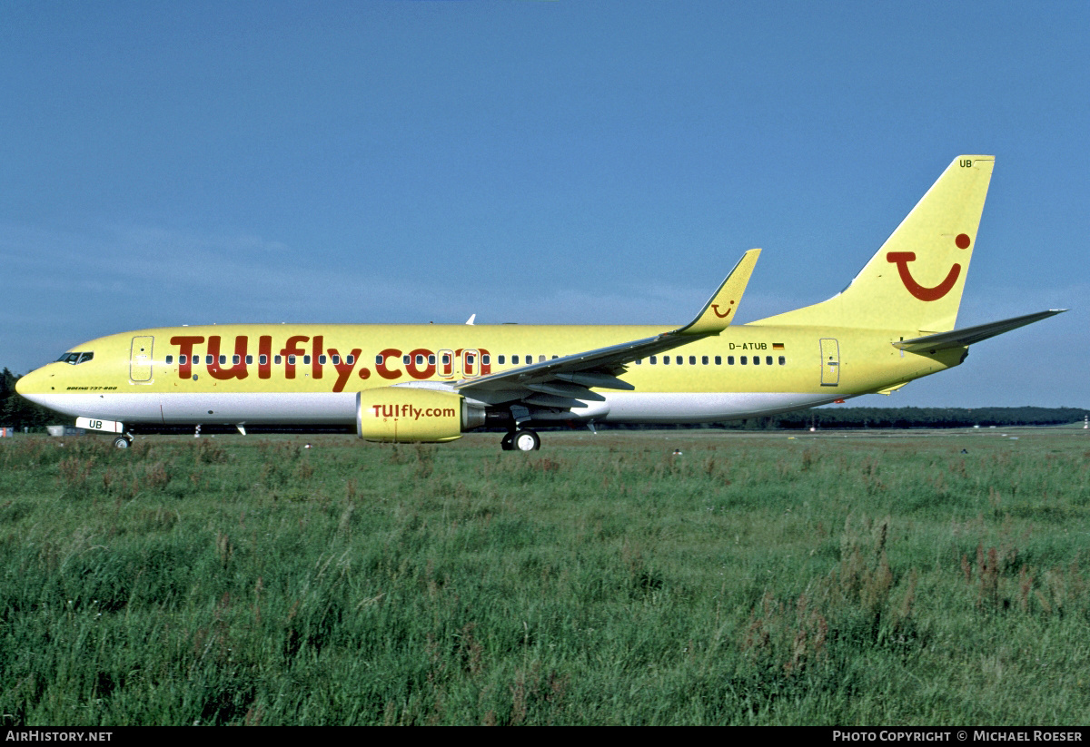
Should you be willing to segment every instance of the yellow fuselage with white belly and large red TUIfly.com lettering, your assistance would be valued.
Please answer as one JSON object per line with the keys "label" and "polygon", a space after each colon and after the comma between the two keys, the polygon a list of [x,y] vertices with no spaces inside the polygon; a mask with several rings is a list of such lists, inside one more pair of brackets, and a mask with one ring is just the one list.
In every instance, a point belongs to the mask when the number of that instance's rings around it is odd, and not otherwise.
{"label": "yellow fuselage with white belly and large red TUIfly.com lettering", "polygon": [[[356,392],[498,373],[668,328],[523,324],[221,324],[114,334],[73,348],[20,392],[72,415],[143,424],[349,425]],[[630,392],[566,419],[693,423],[785,412],[894,388],[960,363],[903,353],[904,333],[741,324],[630,363]],[[182,395],[182,396],[178,396]],[[254,396],[272,395],[272,396]],[[671,396],[683,395],[683,396]],[[754,396],[755,395],[755,396]],[[243,404],[246,401],[250,404]],[[322,403],[322,404],[315,404]]]}

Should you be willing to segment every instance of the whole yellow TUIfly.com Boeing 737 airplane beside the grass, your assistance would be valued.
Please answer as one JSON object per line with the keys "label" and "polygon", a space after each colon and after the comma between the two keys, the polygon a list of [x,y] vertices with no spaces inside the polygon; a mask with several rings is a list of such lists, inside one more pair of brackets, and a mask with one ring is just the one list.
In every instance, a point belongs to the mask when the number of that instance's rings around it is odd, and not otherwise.
{"label": "whole yellow TUIfly.com Boeing 737 airplane beside the grass", "polygon": [[968,346],[1058,314],[955,330],[991,156],[959,156],[843,292],[730,326],[760,249],[688,324],[218,324],[77,345],[17,391],[111,432],[234,427],[353,430],[451,441],[501,426],[706,423],[889,393],[965,360]]}

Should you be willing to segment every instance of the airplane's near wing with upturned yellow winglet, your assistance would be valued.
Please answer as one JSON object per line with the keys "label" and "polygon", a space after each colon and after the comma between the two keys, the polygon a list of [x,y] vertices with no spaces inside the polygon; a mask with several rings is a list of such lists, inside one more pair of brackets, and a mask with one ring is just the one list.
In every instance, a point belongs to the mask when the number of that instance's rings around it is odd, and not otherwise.
{"label": "airplane's near wing with upturned yellow winglet", "polygon": [[634,389],[632,384],[618,378],[627,364],[718,334],[730,324],[760,254],[761,249],[750,249],[742,255],[697,318],[685,327],[643,340],[467,379],[456,383],[455,389],[493,405],[511,403],[560,408],[586,407],[589,401],[603,401],[605,397],[592,392],[592,387],[630,391]]}

